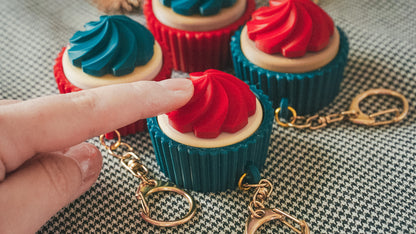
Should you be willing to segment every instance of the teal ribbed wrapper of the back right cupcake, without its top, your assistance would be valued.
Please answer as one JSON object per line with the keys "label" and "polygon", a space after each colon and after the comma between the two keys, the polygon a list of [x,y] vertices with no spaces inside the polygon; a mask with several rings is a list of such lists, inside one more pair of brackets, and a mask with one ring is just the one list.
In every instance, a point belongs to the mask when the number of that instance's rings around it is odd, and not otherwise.
{"label": "teal ribbed wrapper of the back right cupcake, without its top", "polygon": [[272,100],[274,108],[279,107],[282,98],[287,98],[298,114],[315,113],[338,95],[343,79],[349,44],[345,33],[340,28],[338,30],[340,48],[336,57],[318,70],[298,74],[268,71],[251,63],[241,50],[239,30],[231,39],[236,77],[262,89]]}

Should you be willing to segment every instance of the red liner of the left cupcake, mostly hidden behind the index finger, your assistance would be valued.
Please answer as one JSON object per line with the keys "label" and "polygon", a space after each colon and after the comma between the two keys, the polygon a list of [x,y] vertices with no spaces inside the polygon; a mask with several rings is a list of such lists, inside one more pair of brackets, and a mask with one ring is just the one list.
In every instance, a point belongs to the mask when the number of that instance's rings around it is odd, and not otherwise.
{"label": "red liner of the left cupcake, mostly hidden behind the index finger", "polygon": [[[154,81],[161,81],[171,77],[172,74],[172,57],[169,53],[167,47],[161,43],[159,43],[162,47],[163,53],[163,66],[160,70],[159,74],[153,79]],[[66,47],[62,48],[62,51],[58,54],[58,57],[55,59],[55,65],[53,66],[53,72],[55,75],[56,84],[58,85],[58,89],[60,93],[71,93],[77,92],[82,89],[78,88],[77,86],[73,85],[69,80],[66,78],[64,73],[64,68],[62,65],[62,56],[65,52]],[[146,120],[138,120],[134,123],[131,123],[127,126],[117,129],[122,136],[126,136],[129,134],[134,134],[136,132],[141,132],[147,129]],[[113,139],[116,137],[114,132],[110,132],[105,134],[107,139]]]}

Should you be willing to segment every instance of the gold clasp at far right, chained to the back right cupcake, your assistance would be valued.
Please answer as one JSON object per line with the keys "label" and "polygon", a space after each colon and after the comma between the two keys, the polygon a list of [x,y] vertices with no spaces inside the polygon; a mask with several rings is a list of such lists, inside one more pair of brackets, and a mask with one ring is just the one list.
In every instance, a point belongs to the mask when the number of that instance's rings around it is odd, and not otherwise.
{"label": "gold clasp at far right, chained to the back right cupcake", "polygon": [[[360,102],[364,100],[365,98],[369,96],[373,96],[373,95],[387,95],[387,96],[392,96],[392,97],[396,97],[400,99],[403,105],[402,111],[400,112],[398,108],[391,108],[391,109],[382,110],[382,111],[379,111],[370,115],[364,114],[360,110]],[[389,89],[370,89],[359,94],[357,97],[353,99],[350,105],[350,111],[353,112],[354,114],[349,118],[349,120],[355,124],[363,124],[367,126],[384,125],[384,124],[396,123],[404,119],[407,113],[409,112],[409,102],[402,94],[396,91],[389,90]],[[391,113],[395,113],[395,116],[389,120],[384,120],[384,121],[376,120],[377,116],[391,114]]]}

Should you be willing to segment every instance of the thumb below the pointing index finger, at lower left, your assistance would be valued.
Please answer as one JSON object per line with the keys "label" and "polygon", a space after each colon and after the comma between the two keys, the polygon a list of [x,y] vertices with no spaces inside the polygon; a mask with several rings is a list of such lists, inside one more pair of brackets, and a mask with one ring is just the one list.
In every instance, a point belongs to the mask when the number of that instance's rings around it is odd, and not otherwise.
{"label": "thumb below the pointing index finger, at lower left", "polygon": [[0,233],[34,233],[62,207],[96,181],[100,151],[81,143],[68,150],[42,153],[0,183]]}

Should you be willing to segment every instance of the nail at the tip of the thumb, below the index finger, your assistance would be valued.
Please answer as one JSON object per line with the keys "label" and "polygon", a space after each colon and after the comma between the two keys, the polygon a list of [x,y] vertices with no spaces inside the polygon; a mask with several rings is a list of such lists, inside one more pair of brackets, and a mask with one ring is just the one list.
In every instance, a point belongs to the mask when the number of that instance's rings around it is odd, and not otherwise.
{"label": "nail at the tip of the thumb, below the index finger", "polygon": [[101,153],[97,147],[84,142],[69,148],[65,155],[78,163],[83,184],[96,180],[102,165]]}

